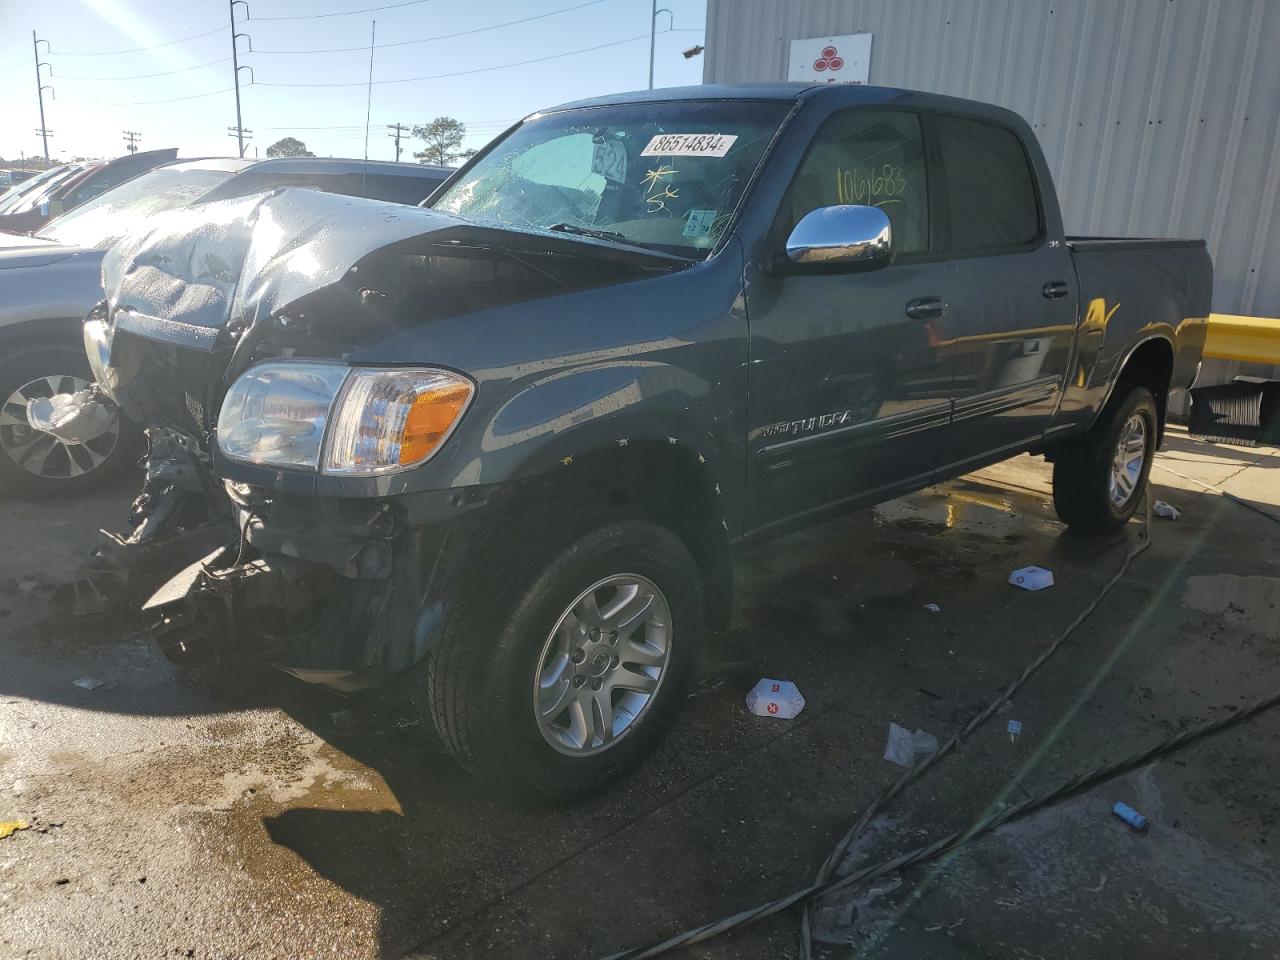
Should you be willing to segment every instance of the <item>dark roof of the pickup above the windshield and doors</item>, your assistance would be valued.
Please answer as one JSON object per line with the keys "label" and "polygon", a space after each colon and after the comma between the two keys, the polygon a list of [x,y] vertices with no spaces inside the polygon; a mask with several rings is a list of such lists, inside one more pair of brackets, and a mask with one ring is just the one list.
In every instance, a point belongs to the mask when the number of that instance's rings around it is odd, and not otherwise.
{"label": "dark roof of the pickup above the windshield and doors", "polygon": [[[924,93],[916,90],[899,87],[873,87],[865,83],[704,83],[696,87],[667,87],[663,90],[636,90],[630,93],[609,93],[608,96],[575,100],[568,104],[539,110],[556,113],[576,110],[586,106],[608,106],[612,104],[660,104],[691,100],[773,100],[780,102],[800,102],[804,100],[829,100],[840,106],[874,105],[899,102],[904,106],[933,106],[938,109],[963,110],[972,114],[986,114],[993,119],[1009,122],[1018,115],[1000,106],[977,100],[961,100],[941,93]],[[538,114],[532,114],[538,115]]]}

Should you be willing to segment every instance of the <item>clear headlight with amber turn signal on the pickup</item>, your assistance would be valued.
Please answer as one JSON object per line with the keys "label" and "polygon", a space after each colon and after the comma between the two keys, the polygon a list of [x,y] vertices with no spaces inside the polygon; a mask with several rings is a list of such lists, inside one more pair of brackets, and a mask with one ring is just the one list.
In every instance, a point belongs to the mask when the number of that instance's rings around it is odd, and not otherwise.
{"label": "clear headlight with amber turn signal on the pickup", "polygon": [[434,453],[471,401],[447,370],[273,362],[244,371],[223,401],[218,445],[247,463],[365,476]]}

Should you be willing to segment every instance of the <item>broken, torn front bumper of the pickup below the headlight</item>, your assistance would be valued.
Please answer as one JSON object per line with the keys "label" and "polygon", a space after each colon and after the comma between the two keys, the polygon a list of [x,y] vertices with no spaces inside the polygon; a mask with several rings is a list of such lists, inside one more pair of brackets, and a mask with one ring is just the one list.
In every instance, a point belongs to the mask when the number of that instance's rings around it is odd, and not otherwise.
{"label": "broken, torn front bumper of the pickup below the headlight", "polygon": [[152,637],[178,663],[256,660],[339,689],[422,659],[506,502],[502,488],[356,500],[228,493],[237,541],[146,602]]}

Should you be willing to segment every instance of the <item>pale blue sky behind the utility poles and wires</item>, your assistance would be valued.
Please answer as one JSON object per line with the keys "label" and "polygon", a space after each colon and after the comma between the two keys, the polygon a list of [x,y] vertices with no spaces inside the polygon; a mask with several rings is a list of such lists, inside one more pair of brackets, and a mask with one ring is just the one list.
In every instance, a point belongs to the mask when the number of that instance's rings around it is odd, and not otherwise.
{"label": "pale blue sky behind the utility poles and wires", "polygon": [[[703,58],[681,51],[703,42],[705,0],[659,6],[672,13],[657,18],[654,86],[700,83]],[[364,156],[375,20],[369,157],[394,160],[387,124],[448,115],[479,147],[540,108],[645,88],[649,12],[650,0],[248,0],[246,18],[237,3],[241,64],[251,68],[241,72],[243,125],[253,131],[246,156],[287,136],[317,156]],[[0,0],[5,160],[44,154],[32,31],[49,64],[54,160],[118,156],[124,131],[142,134],[142,150],[234,156],[227,0]],[[421,143],[402,146],[412,160]]]}

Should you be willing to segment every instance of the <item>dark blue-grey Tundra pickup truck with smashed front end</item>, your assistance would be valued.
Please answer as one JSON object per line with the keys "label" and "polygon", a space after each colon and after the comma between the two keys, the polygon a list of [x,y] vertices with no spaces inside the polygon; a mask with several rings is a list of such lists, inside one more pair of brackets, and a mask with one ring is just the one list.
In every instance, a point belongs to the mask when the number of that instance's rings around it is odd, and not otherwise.
{"label": "dark blue-grey Tundra pickup truck with smashed front end", "polygon": [[1007,110],[703,86],[536,113],[426,209],[284,191],[104,265],[84,339],[150,431],[118,554],[178,663],[416,691],[573,797],[634,767],[748,544],[1019,453],[1138,506],[1197,372],[1199,241],[1066,237]]}

